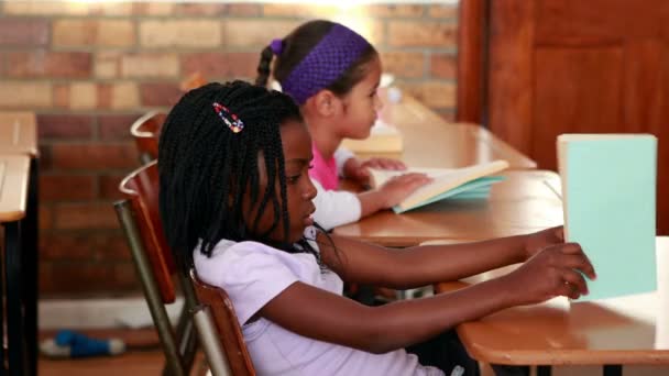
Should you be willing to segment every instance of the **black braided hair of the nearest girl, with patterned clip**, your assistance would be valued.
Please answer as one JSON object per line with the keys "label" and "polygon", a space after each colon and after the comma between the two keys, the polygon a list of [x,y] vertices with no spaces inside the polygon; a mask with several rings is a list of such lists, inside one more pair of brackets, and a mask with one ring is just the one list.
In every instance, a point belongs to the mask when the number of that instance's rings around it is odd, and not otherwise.
{"label": "black braided hair of the nearest girl, with patterned clip", "polygon": [[[213,103],[243,121],[235,133]],[[306,241],[288,244],[286,177],[279,125],[301,122],[290,97],[243,81],[208,84],[186,93],[172,109],[158,143],[161,220],[175,258],[184,270],[193,267],[193,251],[210,256],[222,239],[257,241],[286,252],[317,252]],[[267,185],[260,191],[259,158],[264,158]],[[278,192],[275,183],[278,181]],[[244,212],[244,195],[254,218]],[[278,195],[277,195],[278,193]],[[259,229],[261,214],[272,206],[274,219]],[[283,241],[270,234],[283,225]]]}

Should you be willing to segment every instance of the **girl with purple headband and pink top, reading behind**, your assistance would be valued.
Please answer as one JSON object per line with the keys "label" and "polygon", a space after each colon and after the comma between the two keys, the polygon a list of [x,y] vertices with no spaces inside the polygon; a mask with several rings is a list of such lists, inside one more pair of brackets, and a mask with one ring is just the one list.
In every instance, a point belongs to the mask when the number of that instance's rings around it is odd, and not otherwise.
{"label": "girl with purple headband and pink top, reading behind", "polygon": [[388,209],[429,181],[423,174],[407,174],[360,195],[337,191],[340,175],[366,185],[369,167],[406,168],[394,159],[358,161],[339,147],[344,137],[370,135],[382,106],[376,93],[381,69],[379,54],[364,37],[322,20],[274,40],[261,54],[256,84],[266,86],[272,70],[282,91],[299,104],[311,133],[314,167],[309,175],[319,190],[315,217],[326,229]]}

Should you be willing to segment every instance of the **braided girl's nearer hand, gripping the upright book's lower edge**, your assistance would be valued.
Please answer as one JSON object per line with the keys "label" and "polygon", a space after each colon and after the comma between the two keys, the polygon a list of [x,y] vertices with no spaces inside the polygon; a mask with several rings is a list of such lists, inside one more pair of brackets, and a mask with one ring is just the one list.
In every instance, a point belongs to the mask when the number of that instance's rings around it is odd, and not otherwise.
{"label": "braided girl's nearer hand, gripping the upright book's lower edge", "polygon": [[545,247],[502,278],[507,280],[518,305],[531,305],[557,296],[578,299],[588,295],[583,275],[596,277],[590,259],[579,244],[562,243]]}

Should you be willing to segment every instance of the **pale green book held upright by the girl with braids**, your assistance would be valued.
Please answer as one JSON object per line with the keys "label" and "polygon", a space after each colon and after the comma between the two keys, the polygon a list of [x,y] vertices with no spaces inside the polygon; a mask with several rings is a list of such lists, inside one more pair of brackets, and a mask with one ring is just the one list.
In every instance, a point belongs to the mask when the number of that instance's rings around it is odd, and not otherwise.
{"label": "pale green book held upright by the girl with braids", "polygon": [[564,237],[581,244],[595,300],[654,291],[657,139],[650,134],[558,137]]}

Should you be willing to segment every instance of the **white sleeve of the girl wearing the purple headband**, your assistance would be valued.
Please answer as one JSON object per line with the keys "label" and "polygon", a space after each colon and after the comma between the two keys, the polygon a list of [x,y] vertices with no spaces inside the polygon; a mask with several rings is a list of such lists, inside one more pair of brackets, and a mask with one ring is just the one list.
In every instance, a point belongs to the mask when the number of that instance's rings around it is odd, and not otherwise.
{"label": "white sleeve of the girl wearing the purple headband", "polygon": [[314,221],[329,231],[338,225],[357,222],[362,214],[360,200],[354,193],[341,190],[326,190],[320,183],[311,179],[318,195],[314,199],[316,212]]}

